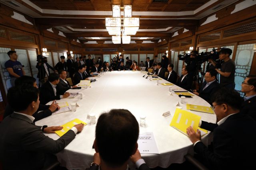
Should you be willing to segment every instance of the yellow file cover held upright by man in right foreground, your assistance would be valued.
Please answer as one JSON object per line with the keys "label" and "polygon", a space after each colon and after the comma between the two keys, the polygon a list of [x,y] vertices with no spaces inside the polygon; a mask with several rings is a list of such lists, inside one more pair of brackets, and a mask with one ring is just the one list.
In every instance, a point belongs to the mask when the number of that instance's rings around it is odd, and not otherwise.
{"label": "yellow file cover held upright by man in right foreground", "polygon": [[200,119],[198,115],[176,108],[170,126],[188,136],[187,128],[191,126],[197,132]]}

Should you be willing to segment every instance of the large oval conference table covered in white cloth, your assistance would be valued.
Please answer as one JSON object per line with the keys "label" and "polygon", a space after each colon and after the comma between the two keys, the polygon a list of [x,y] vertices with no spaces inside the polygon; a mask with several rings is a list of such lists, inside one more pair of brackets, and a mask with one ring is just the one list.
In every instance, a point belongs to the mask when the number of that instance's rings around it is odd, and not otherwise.
{"label": "large oval conference table covered in white cloth", "polygon": [[[101,113],[110,109],[128,109],[140,124],[140,114],[146,115],[146,126],[140,127],[140,132],[153,132],[160,154],[142,154],[142,158],[150,168],[160,166],[167,168],[172,163],[182,163],[185,161],[184,155],[194,154],[193,143],[190,139],[170,127],[172,117],[176,110],[177,101],[180,97],[174,92],[173,96],[168,94],[169,86],[156,85],[156,80],[148,80],[144,74],[135,71],[114,71],[105,72],[102,77],[96,78],[98,81],[91,83],[91,88],[68,90],[68,92],[82,92],[83,99],[79,96],[72,99],[61,99],[57,102],[76,103],[79,107],[76,112],[65,112],[51,115],[40,121],[36,125],[59,126],[74,119],[80,119],[88,123],[83,130],[76,135],[75,139],[61,152],[56,154],[61,166],[69,170],[82,170],[89,168],[93,162],[95,150],[92,145],[95,139],[95,125],[90,125],[90,120],[86,119],[90,113],[96,114],[97,119]],[[167,83],[160,80],[160,83]],[[178,88],[178,86],[173,86]],[[205,100],[198,96],[186,98],[186,103],[201,106],[210,106]],[[51,104],[49,102],[48,104]],[[186,110],[186,104],[180,104]],[[162,114],[170,111],[171,115],[164,117]],[[188,110],[201,116],[201,120],[216,123],[216,115]],[[46,134],[48,137],[57,140],[57,134]],[[212,133],[202,137],[202,142],[207,146],[212,140]],[[122,154],[122,153],[120,153]],[[132,162],[129,166],[134,166]]]}

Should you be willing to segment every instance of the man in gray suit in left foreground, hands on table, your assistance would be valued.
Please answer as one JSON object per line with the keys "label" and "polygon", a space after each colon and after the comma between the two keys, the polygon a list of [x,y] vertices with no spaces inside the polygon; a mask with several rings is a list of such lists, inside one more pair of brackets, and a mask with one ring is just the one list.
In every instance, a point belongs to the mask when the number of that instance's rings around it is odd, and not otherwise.
{"label": "man in gray suit in left foreground, hands on table", "polygon": [[39,106],[36,87],[14,86],[8,90],[8,104],[14,113],[0,124],[0,162],[4,170],[41,170],[55,162],[63,150],[82,130],[84,124],[72,127],[58,140],[44,135],[63,127],[36,126],[32,115]]}

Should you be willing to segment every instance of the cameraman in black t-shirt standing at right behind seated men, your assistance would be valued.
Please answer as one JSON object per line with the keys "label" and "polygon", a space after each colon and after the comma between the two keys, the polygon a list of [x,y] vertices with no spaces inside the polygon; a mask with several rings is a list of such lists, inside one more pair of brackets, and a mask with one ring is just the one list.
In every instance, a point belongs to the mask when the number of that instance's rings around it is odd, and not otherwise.
{"label": "cameraman in black t-shirt standing at right behind seated men", "polygon": [[[224,61],[224,63],[222,63],[220,70],[217,68],[215,70],[220,74],[220,85],[222,87],[235,89],[236,64],[232,59],[230,59],[231,54],[231,49],[221,49],[219,57],[220,60]],[[212,61],[212,65],[216,66],[216,62]]]}

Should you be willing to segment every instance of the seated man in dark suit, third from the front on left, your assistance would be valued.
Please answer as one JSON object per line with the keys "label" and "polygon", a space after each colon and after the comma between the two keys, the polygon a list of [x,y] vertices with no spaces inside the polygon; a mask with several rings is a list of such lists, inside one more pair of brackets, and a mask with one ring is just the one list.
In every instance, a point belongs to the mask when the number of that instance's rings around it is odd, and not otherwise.
{"label": "seated man in dark suit, third from the front on left", "polygon": [[67,98],[70,94],[65,93],[60,95],[56,85],[60,82],[60,75],[56,73],[51,73],[49,75],[48,81],[44,83],[40,89],[40,103],[47,104],[53,100],[60,100],[62,98]]}

